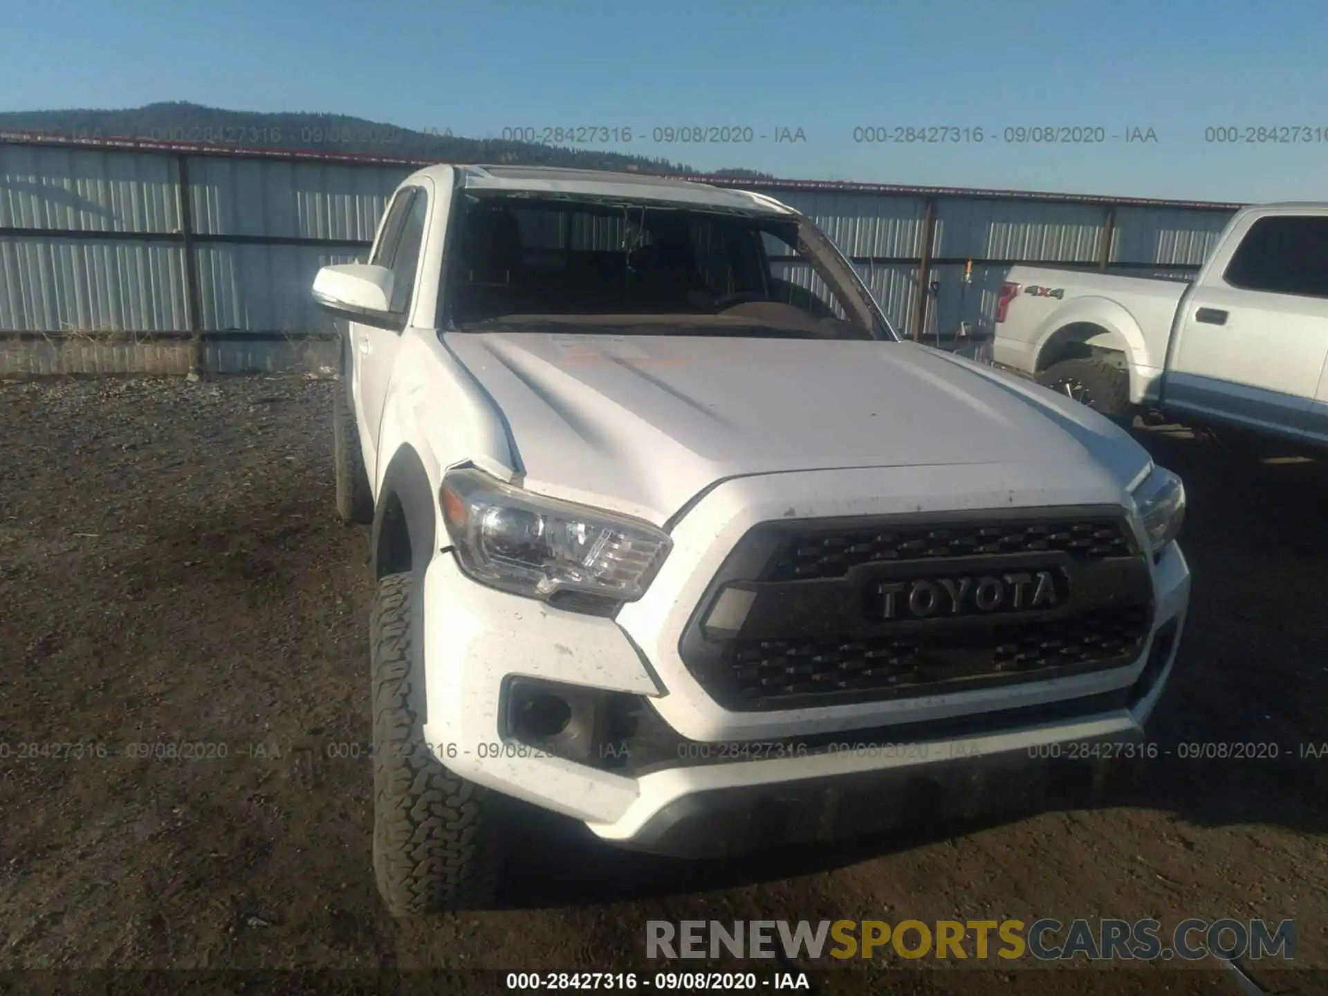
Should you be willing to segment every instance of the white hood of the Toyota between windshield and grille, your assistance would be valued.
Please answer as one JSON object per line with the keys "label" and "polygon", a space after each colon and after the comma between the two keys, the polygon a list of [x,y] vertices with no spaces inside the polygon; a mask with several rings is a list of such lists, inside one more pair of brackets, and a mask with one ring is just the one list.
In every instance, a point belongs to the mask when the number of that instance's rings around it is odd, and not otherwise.
{"label": "white hood of the Toyota between windshield and grille", "polygon": [[708,486],[795,470],[1149,462],[1036,384],[912,343],[449,332],[525,487],[665,523]]}

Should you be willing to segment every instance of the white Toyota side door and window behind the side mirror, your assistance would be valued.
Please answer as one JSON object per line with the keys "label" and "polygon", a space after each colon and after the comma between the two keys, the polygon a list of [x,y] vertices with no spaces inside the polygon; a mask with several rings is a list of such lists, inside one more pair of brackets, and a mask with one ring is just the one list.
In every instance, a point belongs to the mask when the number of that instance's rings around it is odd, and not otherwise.
{"label": "white Toyota side door and window behind the side mirror", "polygon": [[[382,234],[373,248],[371,263],[386,267],[393,274],[392,311],[409,311],[414,291],[416,270],[420,264],[420,246],[424,242],[424,224],[429,198],[420,187],[402,187],[392,199]],[[382,405],[392,382],[392,369],[401,345],[401,333],[388,328],[376,328],[351,323],[351,348],[355,357],[353,397],[363,426],[361,441],[365,449],[365,467],[371,479],[378,475],[378,426],[382,422]]]}

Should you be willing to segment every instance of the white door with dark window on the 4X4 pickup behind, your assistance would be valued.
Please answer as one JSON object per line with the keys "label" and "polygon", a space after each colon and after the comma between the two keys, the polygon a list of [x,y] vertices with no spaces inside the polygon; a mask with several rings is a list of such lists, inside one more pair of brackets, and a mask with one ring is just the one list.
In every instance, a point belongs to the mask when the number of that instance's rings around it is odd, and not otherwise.
{"label": "white door with dark window on the 4X4 pickup behind", "polygon": [[1304,436],[1328,359],[1328,214],[1254,214],[1231,235],[1181,303],[1163,404]]}

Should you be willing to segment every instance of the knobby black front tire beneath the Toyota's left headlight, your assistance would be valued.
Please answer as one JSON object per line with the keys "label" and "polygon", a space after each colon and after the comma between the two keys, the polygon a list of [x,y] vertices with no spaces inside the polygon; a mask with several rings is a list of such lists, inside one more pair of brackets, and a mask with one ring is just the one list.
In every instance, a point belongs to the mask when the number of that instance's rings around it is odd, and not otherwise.
{"label": "knobby black front tire beneath the Toyota's left headlight", "polygon": [[373,871],[393,916],[491,908],[502,866],[502,797],[449,772],[424,742],[417,582],[378,582],[373,668]]}

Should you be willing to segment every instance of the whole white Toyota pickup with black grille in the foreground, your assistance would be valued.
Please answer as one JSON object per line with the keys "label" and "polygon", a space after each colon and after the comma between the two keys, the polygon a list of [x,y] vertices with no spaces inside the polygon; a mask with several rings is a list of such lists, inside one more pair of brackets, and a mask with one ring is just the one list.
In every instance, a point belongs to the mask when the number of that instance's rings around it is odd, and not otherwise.
{"label": "whole white Toyota pickup with black grille in the foreground", "polygon": [[[393,914],[491,902],[522,805],[718,857],[1142,750],[1189,600],[1179,479],[899,341],[797,211],[432,166],[313,295],[348,321],[336,486],[372,525]],[[1066,741],[1084,770],[1049,768]]]}

